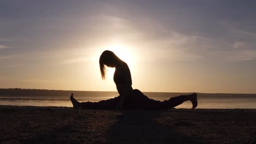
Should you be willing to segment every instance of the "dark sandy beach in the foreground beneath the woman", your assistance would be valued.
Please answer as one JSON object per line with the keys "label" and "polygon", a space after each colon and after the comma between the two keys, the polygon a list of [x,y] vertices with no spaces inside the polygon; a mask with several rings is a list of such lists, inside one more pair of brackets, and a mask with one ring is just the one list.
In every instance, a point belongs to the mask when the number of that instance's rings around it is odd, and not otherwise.
{"label": "dark sandy beach in the foreground beneath the woman", "polygon": [[0,143],[256,143],[256,110],[0,106]]}

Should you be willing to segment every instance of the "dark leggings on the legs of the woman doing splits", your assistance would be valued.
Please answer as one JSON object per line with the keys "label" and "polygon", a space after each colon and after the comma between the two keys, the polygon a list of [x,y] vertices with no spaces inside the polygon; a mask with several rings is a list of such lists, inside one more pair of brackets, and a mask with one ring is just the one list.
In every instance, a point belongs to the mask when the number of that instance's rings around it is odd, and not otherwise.
{"label": "dark leggings on the legs of the woman doing splits", "polygon": [[[101,100],[98,102],[84,102],[82,103],[83,109],[115,109],[120,100],[120,95],[118,97]],[[182,104],[187,100],[187,95],[181,95],[178,97],[173,97],[165,101],[159,101],[148,98],[138,89],[134,89],[129,97],[124,101],[124,109],[142,109],[142,110],[167,110],[175,106]]]}

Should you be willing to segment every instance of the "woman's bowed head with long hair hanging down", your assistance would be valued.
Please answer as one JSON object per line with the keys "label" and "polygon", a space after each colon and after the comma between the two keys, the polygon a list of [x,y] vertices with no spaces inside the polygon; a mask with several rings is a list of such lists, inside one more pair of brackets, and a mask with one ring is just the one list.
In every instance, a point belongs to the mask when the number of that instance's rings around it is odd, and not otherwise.
{"label": "woman's bowed head with long hair hanging down", "polygon": [[[103,51],[100,57],[100,69],[101,69],[101,77],[104,80],[106,74],[106,66],[114,68],[115,65],[121,61],[117,55],[115,55],[112,51]],[[106,66],[105,66],[106,65]]]}

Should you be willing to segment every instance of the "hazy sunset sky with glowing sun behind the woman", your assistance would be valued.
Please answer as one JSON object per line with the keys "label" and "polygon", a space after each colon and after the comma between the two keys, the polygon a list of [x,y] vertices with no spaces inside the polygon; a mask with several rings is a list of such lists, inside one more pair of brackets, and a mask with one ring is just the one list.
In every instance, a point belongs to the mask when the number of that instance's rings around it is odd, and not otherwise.
{"label": "hazy sunset sky with glowing sun behind the woman", "polygon": [[112,50],[143,92],[256,93],[255,1],[0,4],[0,88],[117,91]]}

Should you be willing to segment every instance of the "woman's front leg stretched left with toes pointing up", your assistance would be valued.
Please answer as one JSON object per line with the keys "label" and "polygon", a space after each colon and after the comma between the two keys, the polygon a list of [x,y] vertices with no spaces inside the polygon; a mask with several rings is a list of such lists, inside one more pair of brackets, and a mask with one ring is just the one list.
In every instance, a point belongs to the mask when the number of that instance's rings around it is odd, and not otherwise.
{"label": "woman's front leg stretched left with toes pointing up", "polygon": [[73,107],[75,109],[82,108],[82,109],[115,109],[115,107],[118,105],[120,97],[115,97],[108,100],[101,100],[98,102],[83,102],[79,103],[76,99],[73,97],[73,93],[71,94],[70,100],[73,104]]}

